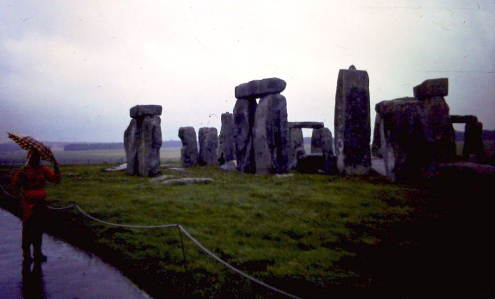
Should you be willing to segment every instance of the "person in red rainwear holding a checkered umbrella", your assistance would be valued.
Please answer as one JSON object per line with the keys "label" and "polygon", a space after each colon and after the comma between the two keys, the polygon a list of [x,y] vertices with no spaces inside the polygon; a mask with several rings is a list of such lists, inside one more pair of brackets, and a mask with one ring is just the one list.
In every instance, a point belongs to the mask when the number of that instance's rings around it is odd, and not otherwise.
{"label": "person in red rainwear holding a checkered umbrella", "polygon": [[[47,256],[41,250],[43,226],[47,216],[47,181],[58,184],[61,181],[58,162],[53,157],[51,150],[41,142],[29,136],[17,137],[22,142],[11,137],[23,149],[29,148],[27,163],[14,173],[11,185],[12,189],[20,192],[20,204],[22,208],[22,255],[25,263],[31,263],[33,259],[39,262],[47,261]],[[27,145],[31,145],[28,147]],[[49,152],[49,154],[47,154]],[[54,172],[48,167],[40,165],[40,159],[53,162]],[[31,245],[33,245],[33,258],[31,257]]]}

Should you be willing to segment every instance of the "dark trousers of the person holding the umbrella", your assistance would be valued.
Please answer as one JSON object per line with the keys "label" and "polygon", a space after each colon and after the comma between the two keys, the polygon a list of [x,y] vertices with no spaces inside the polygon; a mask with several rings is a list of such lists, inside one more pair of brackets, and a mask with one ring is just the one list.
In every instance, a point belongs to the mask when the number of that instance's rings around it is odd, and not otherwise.
{"label": "dark trousers of the person holding the umbrella", "polygon": [[33,255],[41,254],[41,244],[43,238],[43,224],[46,221],[47,208],[36,206],[33,213],[22,221],[22,255],[31,255],[31,245],[33,245]]}

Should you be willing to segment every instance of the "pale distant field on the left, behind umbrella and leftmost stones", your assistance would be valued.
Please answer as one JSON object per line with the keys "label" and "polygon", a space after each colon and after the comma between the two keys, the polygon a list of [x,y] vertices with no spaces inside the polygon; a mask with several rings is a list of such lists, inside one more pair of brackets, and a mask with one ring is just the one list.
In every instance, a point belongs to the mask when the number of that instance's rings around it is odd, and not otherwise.
{"label": "pale distant field on the left, behind umbrella and leftmost stones", "polygon": [[[64,151],[54,149],[53,155],[61,164],[87,163],[125,163],[124,149],[98,149]],[[160,161],[179,161],[181,148],[161,148]],[[26,162],[26,151],[0,151],[0,164],[23,164]]]}

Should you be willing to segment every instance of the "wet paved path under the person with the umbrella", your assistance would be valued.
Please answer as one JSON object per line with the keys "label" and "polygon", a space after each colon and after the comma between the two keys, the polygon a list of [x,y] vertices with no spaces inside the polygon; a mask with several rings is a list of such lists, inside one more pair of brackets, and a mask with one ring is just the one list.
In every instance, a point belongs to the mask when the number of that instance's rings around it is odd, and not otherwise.
{"label": "wet paved path under the person with the umbrella", "polygon": [[48,261],[22,273],[21,221],[0,208],[0,298],[149,298],[95,255],[43,235]]}

